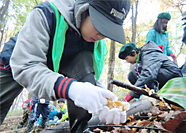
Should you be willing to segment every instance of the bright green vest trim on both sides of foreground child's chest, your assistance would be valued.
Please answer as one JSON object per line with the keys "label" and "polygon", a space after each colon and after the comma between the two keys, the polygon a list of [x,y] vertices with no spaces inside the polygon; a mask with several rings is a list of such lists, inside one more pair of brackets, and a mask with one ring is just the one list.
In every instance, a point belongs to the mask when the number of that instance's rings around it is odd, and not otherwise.
{"label": "bright green vest trim on both sides of foreground child's chest", "polygon": [[[54,72],[59,71],[60,61],[63,54],[65,44],[65,34],[68,29],[68,24],[64,17],[59,13],[56,6],[49,1],[56,15],[56,31],[54,35],[53,47],[52,47],[52,61]],[[96,79],[98,80],[103,70],[105,55],[107,54],[107,48],[105,40],[99,40],[94,43],[94,71]]]}

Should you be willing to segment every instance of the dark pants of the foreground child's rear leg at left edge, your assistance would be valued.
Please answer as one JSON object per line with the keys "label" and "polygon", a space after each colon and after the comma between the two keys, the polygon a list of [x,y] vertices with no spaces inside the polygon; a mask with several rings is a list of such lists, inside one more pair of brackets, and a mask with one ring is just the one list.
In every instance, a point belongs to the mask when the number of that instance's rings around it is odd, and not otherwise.
{"label": "dark pants of the foreground child's rear leg at left edge", "polygon": [[0,72],[0,125],[22,90],[23,87],[13,79],[11,73]]}

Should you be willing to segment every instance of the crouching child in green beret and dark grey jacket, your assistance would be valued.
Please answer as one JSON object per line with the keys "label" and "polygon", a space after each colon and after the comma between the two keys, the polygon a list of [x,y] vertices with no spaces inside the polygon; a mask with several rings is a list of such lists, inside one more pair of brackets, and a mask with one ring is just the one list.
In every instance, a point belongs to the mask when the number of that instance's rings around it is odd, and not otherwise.
{"label": "crouching child in green beret and dark grey jacket", "polygon": [[[128,74],[128,80],[131,84],[140,88],[145,88],[145,85],[147,85],[150,89],[154,89],[154,92],[157,92],[168,80],[182,77],[177,64],[165,56],[162,50],[152,41],[141,48],[136,48],[136,44],[133,42],[127,43],[121,47],[118,56],[128,63],[134,64],[132,71]],[[124,101],[139,98],[140,95],[137,92],[130,91]]]}

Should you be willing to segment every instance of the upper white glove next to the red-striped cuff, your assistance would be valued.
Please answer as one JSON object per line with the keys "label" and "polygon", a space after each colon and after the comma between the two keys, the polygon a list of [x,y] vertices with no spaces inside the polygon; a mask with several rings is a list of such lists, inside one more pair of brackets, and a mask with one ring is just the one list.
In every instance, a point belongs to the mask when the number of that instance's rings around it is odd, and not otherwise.
{"label": "upper white glove next to the red-striped cuff", "polygon": [[107,99],[117,100],[116,95],[109,90],[102,89],[88,82],[73,82],[69,88],[69,97],[76,106],[88,110],[89,113],[97,113],[107,104]]}

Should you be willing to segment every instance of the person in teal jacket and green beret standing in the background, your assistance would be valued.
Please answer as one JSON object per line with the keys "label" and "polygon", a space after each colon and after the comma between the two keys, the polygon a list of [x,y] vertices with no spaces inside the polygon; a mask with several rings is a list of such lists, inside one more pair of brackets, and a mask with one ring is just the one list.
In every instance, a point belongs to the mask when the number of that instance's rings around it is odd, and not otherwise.
{"label": "person in teal jacket and green beret standing in the background", "polygon": [[161,48],[163,54],[166,56],[171,56],[173,61],[176,63],[176,56],[170,50],[167,25],[171,19],[171,15],[168,12],[162,12],[158,15],[156,22],[152,29],[146,35],[145,44],[149,41],[153,41]]}

